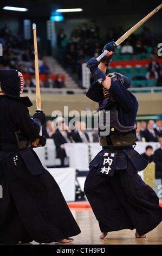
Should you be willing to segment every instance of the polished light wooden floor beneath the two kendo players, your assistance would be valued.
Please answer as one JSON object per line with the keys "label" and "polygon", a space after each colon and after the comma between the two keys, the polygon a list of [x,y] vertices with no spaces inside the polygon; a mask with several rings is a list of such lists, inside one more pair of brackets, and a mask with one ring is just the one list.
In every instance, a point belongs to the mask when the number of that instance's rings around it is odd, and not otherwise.
{"label": "polished light wooden floor beneath the two kendo players", "polygon": [[[73,237],[73,242],[64,245],[162,245],[162,222],[150,231],[146,238],[135,239],[135,230],[125,229],[108,233],[105,239],[101,240],[98,221],[91,208],[70,208],[70,210],[81,233]],[[39,243],[33,241],[30,245],[39,245]]]}

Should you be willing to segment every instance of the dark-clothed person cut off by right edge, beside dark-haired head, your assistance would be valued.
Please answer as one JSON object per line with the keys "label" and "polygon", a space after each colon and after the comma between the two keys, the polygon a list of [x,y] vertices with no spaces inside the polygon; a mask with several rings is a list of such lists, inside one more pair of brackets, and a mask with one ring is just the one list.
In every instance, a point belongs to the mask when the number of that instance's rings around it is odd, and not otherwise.
{"label": "dark-clothed person cut off by right edge, beside dark-haired head", "polygon": [[162,136],[159,138],[160,148],[154,151],[153,161],[155,162],[155,179],[162,182]]}

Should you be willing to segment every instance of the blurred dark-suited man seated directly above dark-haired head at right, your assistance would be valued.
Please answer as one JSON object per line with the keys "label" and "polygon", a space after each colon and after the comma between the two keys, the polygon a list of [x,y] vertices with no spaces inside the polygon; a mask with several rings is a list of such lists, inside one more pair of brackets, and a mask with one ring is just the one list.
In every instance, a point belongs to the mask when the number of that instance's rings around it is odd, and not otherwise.
{"label": "blurred dark-suited man seated directly above dark-haired head at right", "polygon": [[142,132],[142,136],[145,138],[146,142],[158,142],[157,135],[154,131],[154,121],[149,120],[147,124],[147,129]]}

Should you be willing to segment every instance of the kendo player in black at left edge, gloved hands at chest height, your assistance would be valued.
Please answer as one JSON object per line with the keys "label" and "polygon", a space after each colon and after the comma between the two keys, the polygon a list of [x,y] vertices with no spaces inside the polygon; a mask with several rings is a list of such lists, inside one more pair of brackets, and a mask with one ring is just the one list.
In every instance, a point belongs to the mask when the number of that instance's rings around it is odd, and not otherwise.
{"label": "kendo player in black at left edge, gloved hands at chest height", "polygon": [[80,233],[53,176],[33,147],[46,144],[40,127],[44,113],[30,118],[29,97],[21,97],[23,76],[0,69],[0,243],[72,242]]}

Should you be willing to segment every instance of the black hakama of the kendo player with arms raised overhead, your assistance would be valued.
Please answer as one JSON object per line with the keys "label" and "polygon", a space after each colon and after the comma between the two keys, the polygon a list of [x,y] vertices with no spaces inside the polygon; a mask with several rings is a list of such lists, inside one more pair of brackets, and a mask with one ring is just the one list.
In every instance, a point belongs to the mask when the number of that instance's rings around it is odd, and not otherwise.
{"label": "black hakama of the kendo player with arms raised overhead", "polygon": [[124,158],[125,169],[119,169],[117,163],[112,176],[100,175],[99,153],[90,163],[85,194],[101,232],[135,228],[141,236],[161,222],[162,208],[153,189],[142,181],[129,158]]}

